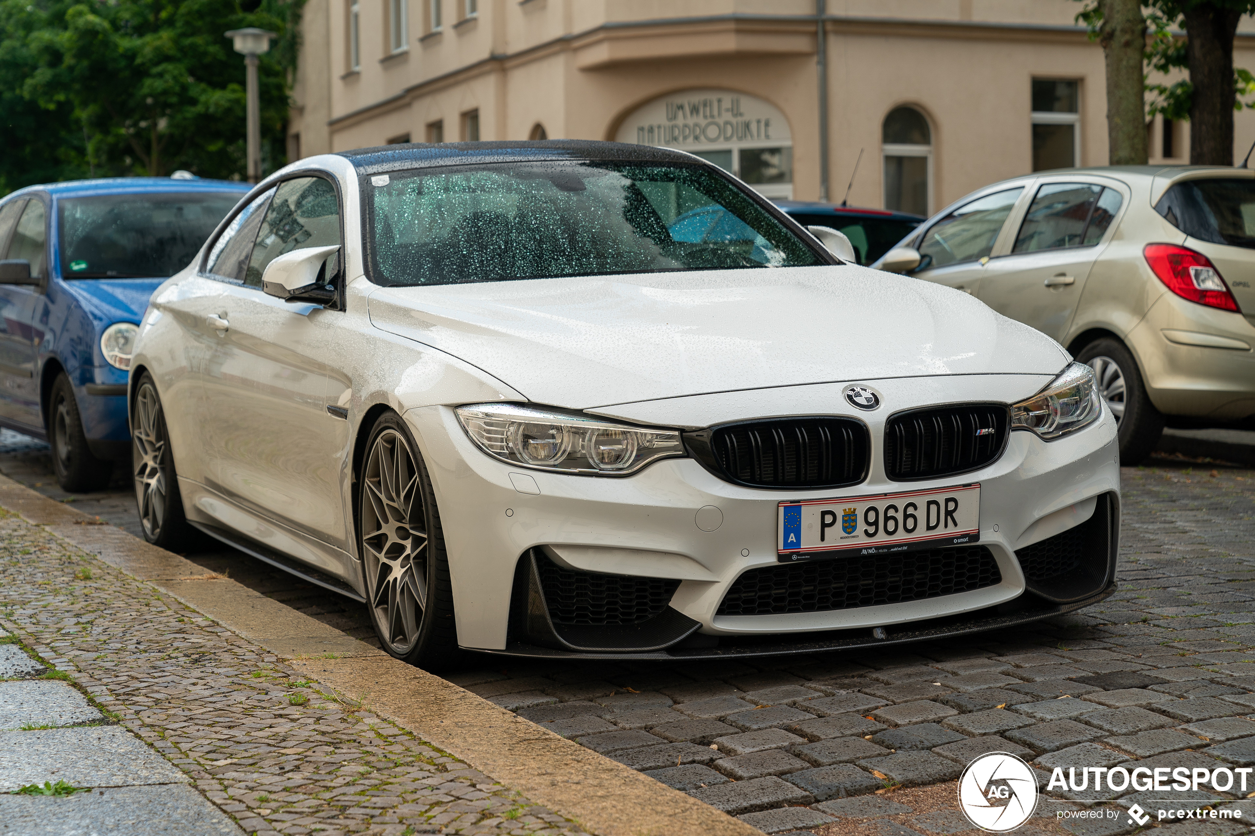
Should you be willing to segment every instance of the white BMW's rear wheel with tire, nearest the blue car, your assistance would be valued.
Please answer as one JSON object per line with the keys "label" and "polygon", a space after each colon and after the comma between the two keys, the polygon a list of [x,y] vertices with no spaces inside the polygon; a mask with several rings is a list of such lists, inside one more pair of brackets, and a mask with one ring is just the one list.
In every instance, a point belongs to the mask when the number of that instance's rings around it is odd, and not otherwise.
{"label": "white BMW's rear wheel with tire, nearest the blue car", "polygon": [[131,465],[144,539],[171,550],[190,545],[196,530],[183,516],[166,412],[148,372],[139,376],[131,404]]}

